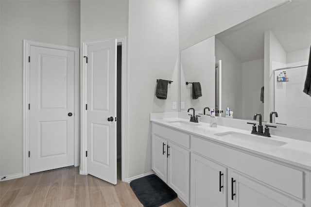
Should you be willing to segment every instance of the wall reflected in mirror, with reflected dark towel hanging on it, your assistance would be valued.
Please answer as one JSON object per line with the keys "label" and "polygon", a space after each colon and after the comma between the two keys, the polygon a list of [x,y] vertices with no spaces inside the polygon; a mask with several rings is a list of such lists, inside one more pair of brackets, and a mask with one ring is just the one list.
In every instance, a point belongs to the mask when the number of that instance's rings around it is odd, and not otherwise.
{"label": "wall reflected in mirror, with reflected dark towel hanging on it", "polygon": [[[182,50],[180,60],[180,101],[185,102],[181,111],[215,109],[215,36]],[[202,96],[193,99],[192,84],[186,81],[200,82]]]}

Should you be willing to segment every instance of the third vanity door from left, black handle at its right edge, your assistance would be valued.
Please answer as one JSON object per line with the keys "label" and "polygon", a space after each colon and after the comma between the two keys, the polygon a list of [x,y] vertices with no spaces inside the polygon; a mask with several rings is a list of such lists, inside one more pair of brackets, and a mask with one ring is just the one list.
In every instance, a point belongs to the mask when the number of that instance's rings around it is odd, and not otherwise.
{"label": "third vanity door from left, black handle at its right edge", "polygon": [[191,207],[225,207],[226,191],[226,168],[191,153]]}

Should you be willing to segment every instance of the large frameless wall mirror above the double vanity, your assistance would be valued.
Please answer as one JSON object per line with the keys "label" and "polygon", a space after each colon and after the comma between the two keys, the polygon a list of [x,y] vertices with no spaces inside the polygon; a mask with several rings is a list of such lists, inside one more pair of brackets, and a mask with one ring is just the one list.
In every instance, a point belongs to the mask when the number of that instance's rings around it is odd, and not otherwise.
{"label": "large frameless wall mirror above the double vanity", "polygon": [[[221,61],[221,110],[230,108],[234,119],[246,120],[259,112],[267,122],[270,112],[276,111],[275,123],[311,127],[311,97],[302,92],[311,46],[310,11],[310,0],[288,1],[208,38],[207,42],[214,41],[209,47],[215,53],[204,48],[205,41],[182,50],[181,111],[215,108],[217,93],[207,92],[217,89],[212,86],[216,68],[212,64]],[[213,55],[215,61],[209,61]],[[207,63],[197,57],[205,57]],[[187,80],[200,81],[202,97],[191,98]]]}

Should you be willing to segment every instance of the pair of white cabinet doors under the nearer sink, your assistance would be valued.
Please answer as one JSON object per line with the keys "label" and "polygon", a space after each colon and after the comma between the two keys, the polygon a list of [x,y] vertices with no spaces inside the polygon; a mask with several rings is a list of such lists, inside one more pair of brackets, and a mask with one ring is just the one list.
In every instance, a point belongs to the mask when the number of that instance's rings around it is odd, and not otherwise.
{"label": "pair of white cabinet doors under the nearer sink", "polygon": [[190,196],[191,207],[303,207],[266,184],[195,153]]}

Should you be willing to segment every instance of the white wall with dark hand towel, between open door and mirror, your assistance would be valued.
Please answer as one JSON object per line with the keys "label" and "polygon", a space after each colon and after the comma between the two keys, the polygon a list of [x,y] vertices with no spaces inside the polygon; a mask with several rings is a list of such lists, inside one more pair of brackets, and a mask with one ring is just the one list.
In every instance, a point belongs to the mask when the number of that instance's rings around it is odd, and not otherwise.
{"label": "white wall with dark hand towel, between open door and mirror", "polygon": [[[173,111],[179,101],[178,0],[129,1],[128,177],[151,172],[150,112]],[[173,80],[166,100],[156,79]]]}

